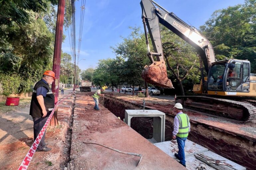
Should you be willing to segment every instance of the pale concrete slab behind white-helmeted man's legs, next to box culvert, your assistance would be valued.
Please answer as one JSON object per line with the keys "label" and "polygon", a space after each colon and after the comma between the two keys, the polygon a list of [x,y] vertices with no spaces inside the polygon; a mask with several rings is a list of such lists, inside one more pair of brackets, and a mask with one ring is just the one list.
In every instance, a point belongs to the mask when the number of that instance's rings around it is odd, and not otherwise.
{"label": "pale concrete slab behind white-helmeted man's legs, next to box culvert", "polygon": [[[166,154],[168,154],[174,159],[176,158],[174,156],[174,153],[178,153],[179,151],[178,143],[176,141],[159,142],[159,143],[155,143],[154,145],[160,148],[161,150],[163,150]],[[201,153],[205,151],[208,151],[208,149],[190,140],[186,140],[185,156],[189,156],[189,155],[193,155],[193,154]]]}

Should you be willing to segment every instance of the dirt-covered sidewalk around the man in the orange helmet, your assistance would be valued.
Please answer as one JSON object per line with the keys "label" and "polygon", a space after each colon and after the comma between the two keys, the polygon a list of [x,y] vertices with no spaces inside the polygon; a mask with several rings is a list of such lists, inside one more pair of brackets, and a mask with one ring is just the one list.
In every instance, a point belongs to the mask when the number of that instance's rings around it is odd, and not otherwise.
{"label": "dirt-covered sidewalk around the man in the orange helmet", "polygon": [[[66,97],[73,88],[64,90]],[[49,143],[49,152],[36,152],[28,169],[60,169],[61,157],[65,147],[65,136],[69,127],[69,118],[73,97],[67,98],[59,105],[59,126],[48,127],[45,141]],[[30,106],[17,112],[0,116],[0,167],[1,169],[18,169],[29,148],[34,142],[33,120],[29,115]]]}

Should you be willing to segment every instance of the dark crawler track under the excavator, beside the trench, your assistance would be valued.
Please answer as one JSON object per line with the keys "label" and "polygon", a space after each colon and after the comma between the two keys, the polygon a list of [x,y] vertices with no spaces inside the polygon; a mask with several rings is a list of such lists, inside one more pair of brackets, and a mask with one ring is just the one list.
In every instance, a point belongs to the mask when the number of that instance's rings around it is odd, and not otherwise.
{"label": "dark crawler track under the excavator, beside the trench", "polygon": [[177,96],[176,101],[182,103],[185,108],[242,122],[249,122],[256,119],[255,100],[242,99],[236,101],[207,96]]}

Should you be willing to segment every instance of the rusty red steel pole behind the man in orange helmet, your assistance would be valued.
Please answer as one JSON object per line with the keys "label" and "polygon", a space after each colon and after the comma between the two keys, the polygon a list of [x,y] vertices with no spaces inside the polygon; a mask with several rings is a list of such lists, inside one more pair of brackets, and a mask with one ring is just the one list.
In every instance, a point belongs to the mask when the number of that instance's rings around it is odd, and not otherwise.
{"label": "rusty red steel pole behind the man in orange helmet", "polygon": [[[57,22],[56,22],[56,33],[54,43],[54,55],[53,55],[53,72],[55,73],[56,80],[52,84],[52,91],[55,94],[55,104],[59,101],[59,83],[60,83],[60,64],[61,64],[61,46],[63,37],[63,24],[64,24],[64,10],[65,0],[59,0]],[[58,122],[58,108],[56,109],[50,126],[59,125]]]}

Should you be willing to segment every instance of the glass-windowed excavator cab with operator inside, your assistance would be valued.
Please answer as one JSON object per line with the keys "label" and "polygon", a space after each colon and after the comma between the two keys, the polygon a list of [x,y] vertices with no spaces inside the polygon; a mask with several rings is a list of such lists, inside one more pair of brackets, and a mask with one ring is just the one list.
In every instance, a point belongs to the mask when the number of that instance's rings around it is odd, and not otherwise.
{"label": "glass-windowed excavator cab with operator inside", "polygon": [[211,65],[207,79],[208,91],[249,92],[250,62],[225,60]]}

